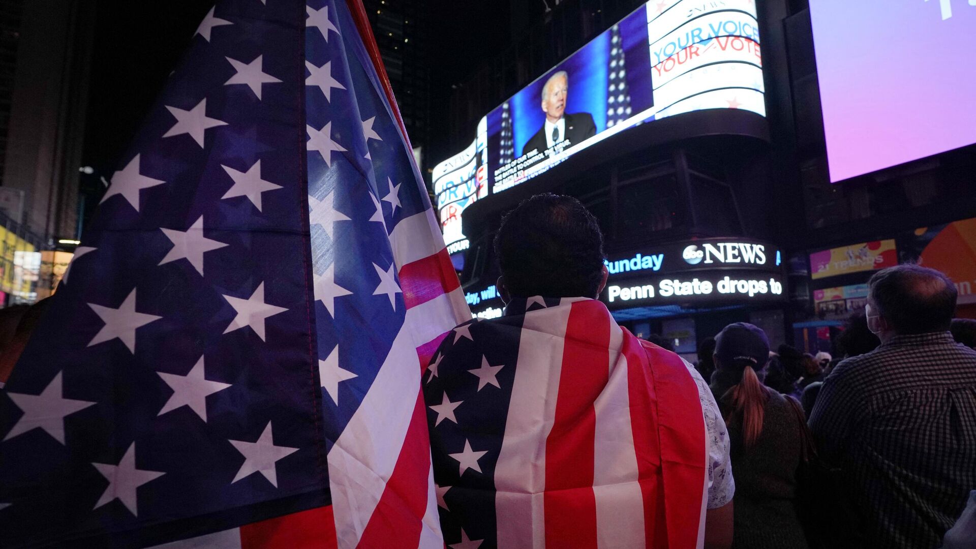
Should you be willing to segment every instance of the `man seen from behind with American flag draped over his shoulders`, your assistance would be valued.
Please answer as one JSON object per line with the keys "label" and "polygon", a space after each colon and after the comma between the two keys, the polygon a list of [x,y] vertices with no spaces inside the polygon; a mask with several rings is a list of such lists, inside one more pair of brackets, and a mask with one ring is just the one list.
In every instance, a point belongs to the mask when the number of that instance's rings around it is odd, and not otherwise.
{"label": "man seen from behind with American flag draped over his shoulders", "polygon": [[593,299],[603,237],[541,194],[495,238],[505,316],[454,329],[424,396],[444,539],[475,547],[728,547],[734,483],[708,385]]}

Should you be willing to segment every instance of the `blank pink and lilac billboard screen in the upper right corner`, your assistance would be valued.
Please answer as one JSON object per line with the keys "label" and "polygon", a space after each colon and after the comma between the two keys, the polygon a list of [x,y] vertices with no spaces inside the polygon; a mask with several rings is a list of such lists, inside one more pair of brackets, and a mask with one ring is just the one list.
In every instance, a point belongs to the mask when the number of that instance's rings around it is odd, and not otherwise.
{"label": "blank pink and lilac billboard screen in the upper right corner", "polygon": [[976,2],[810,0],[832,182],[976,143]]}

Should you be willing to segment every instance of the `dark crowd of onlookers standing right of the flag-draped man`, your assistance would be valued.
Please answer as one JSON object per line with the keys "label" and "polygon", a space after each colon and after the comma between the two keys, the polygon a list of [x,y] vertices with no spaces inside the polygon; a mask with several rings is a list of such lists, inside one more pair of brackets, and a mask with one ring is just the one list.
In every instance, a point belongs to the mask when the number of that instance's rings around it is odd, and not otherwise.
{"label": "dark crowd of onlookers standing right of the flag-draped man", "polygon": [[715,368],[731,440],[733,547],[976,547],[976,320],[953,319],[956,286],[931,269],[869,287],[838,359],[770,353],[746,323],[703,342],[713,361],[700,349],[696,367]]}

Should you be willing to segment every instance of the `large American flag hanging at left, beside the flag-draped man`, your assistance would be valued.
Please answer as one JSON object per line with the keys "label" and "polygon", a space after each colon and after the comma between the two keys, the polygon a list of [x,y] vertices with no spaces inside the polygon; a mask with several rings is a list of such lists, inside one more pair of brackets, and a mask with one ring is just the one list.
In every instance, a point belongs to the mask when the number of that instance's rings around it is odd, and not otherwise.
{"label": "large American flag hanging at left, beside the flag-draped man", "polygon": [[355,0],[201,22],[0,394],[0,545],[443,547],[470,314],[374,59]]}

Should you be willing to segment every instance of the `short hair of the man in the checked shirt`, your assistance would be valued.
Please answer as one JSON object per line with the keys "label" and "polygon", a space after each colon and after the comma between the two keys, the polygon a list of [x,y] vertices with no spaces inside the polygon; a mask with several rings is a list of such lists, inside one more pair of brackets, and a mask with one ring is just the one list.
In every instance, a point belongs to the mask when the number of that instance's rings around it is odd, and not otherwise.
{"label": "short hair of the man in the checked shirt", "polygon": [[945,331],[956,313],[956,285],[949,276],[918,265],[878,271],[868,280],[876,312],[897,334]]}

